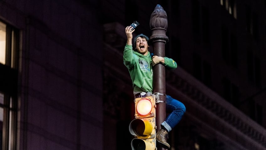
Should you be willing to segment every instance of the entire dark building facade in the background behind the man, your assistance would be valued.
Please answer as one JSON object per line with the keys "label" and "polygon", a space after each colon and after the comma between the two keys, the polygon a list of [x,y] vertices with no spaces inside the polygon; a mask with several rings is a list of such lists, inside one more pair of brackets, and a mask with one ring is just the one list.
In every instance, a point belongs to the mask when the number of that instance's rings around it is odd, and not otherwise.
{"label": "entire dark building facade in the background behind the man", "polygon": [[157,4],[166,92],[187,108],[171,150],[266,149],[263,0],[0,1],[0,149],[130,149],[125,27],[150,36]]}

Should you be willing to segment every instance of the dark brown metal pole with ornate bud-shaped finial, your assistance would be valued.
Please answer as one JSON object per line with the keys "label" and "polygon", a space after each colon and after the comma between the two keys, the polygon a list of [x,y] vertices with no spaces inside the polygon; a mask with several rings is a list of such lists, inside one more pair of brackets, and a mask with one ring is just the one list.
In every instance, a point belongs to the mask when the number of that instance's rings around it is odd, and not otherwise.
{"label": "dark brown metal pole with ornate bud-shaped finial", "polygon": [[[165,43],[168,42],[166,29],[168,27],[167,14],[161,5],[157,5],[151,14],[150,28],[152,36],[150,37],[153,44],[153,52],[156,56],[165,56]],[[157,131],[161,129],[161,124],[166,119],[166,94],[165,94],[165,67],[157,64],[153,67],[153,93],[157,96],[156,107],[156,126]],[[164,148],[156,145],[158,150]]]}

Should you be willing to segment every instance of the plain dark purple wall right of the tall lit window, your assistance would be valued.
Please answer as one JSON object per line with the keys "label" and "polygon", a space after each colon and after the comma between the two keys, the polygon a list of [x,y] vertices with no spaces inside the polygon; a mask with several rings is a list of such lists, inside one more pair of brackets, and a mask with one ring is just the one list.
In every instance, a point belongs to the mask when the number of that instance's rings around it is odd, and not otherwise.
{"label": "plain dark purple wall right of the tall lit window", "polygon": [[20,31],[17,149],[102,149],[97,1],[1,1]]}

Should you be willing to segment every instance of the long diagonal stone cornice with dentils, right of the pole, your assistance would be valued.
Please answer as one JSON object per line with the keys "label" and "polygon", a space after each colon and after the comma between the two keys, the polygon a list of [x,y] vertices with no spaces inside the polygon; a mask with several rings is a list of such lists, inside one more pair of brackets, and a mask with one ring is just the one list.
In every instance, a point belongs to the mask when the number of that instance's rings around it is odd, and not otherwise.
{"label": "long diagonal stone cornice with dentils, right of the pole", "polygon": [[[166,80],[167,85],[172,89],[175,88],[175,90],[180,91],[180,93],[189,97],[197,105],[204,107],[211,114],[221,119],[222,121],[220,123],[222,124],[220,126],[227,126],[227,128],[234,129],[237,137],[232,138],[232,140],[238,142],[242,138],[242,140],[250,142],[253,147],[257,147],[257,149],[266,148],[266,130],[262,126],[258,125],[200,81],[196,80],[181,67],[167,72]],[[218,127],[217,130],[219,130]]]}

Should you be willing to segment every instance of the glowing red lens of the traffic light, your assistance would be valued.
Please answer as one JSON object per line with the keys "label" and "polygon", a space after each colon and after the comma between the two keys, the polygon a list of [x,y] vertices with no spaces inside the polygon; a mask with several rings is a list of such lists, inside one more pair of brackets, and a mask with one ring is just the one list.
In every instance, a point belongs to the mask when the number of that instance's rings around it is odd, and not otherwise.
{"label": "glowing red lens of the traffic light", "polygon": [[143,98],[138,102],[136,109],[139,115],[146,116],[152,111],[152,102],[147,98]]}

